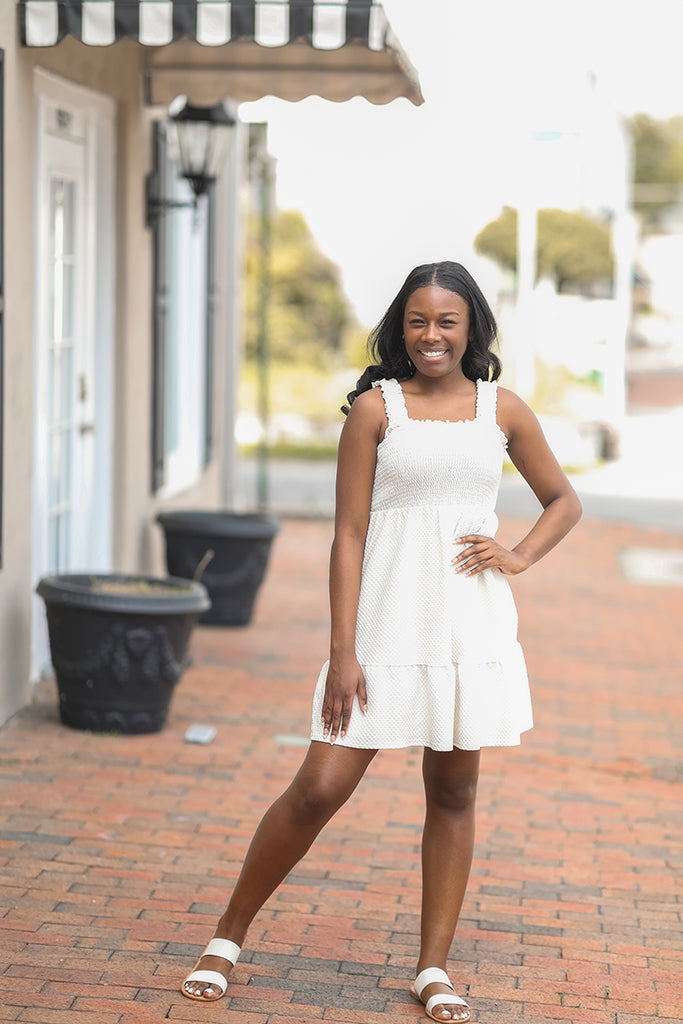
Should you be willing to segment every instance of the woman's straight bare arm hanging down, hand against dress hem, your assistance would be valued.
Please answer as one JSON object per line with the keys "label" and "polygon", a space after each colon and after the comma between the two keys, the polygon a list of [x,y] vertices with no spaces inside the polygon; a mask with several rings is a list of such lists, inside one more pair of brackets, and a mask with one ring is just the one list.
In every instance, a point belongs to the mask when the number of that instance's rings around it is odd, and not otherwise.
{"label": "woman's straight bare arm hanging down, hand against dress hem", "polygon": [[366,391],[353,402],[339,441],[330,559],[330,668],[323,701],[325,735],[332,742],[346,734],[356,693],[364,711],[367,702],[366,681],[355,656],[355,625],[377,445],[385,423],[381,393]]}

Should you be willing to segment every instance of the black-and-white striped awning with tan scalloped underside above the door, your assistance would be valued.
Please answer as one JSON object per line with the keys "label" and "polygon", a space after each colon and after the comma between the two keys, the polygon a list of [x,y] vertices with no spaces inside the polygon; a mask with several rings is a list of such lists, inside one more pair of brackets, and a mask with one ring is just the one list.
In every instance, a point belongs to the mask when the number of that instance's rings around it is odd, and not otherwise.
{"label": "black-and-white striped awning with tan scalloped underside above the door", "polygon": [[423,102],[417,72],[374,0],[17,0],[25,46],[133,40],[147,101],[273,95]]}

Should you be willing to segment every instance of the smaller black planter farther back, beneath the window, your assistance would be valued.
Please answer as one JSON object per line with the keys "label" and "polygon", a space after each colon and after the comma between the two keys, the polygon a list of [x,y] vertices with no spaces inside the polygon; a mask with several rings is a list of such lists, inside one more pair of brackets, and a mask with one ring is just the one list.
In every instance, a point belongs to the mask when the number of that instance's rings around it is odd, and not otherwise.
{"label": "smaller black planter farther back, beneath the window", "polygon": [[200,622],[208,626],[247,626],[280,530],[268,515],[238,512],[168,511],[157,515],[166,538],[171,575],[191,580],[208,551],[213,557],[202,572],[211,598]]}

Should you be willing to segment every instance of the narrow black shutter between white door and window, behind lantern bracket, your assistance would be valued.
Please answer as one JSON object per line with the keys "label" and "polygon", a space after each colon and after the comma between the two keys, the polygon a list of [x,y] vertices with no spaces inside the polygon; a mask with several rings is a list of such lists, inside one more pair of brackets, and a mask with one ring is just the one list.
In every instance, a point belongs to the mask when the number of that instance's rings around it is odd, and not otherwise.
{"label": "narrow black shutter between white door and window, behind lantern bracket", "polygon": [[[153,125],[152,174],[147,188],[153,196],[165,196],[166,133],[161,122]],[[166,321],[168,317],[168,257],[166,217],[152,223],[153,302],[152,302],[152,490],[164,484],[165,407],[166,407]]]}

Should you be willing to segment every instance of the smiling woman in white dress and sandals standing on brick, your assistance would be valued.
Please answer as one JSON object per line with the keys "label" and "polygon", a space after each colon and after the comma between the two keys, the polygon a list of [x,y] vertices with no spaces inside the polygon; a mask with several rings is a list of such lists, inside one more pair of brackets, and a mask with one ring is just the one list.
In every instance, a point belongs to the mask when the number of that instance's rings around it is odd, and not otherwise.
{"label": "smiling woman in white dress and sandals standing on brick", "polygon": [[[413,270],[371,335],[376,361],[348,396],[339,443],[330,659],[313,697],[312,741],[254,836],[200,970],[183,982],[190,998],[224,993],[254,916],[377,751],[423,745],[411,991],[432,1020],[469,1019],[445,966],[472,859],[479,753],[518,743],[532,724],[506,577],[543,557],[581,516],[537,418],[498,388],[495,340],[486,300],[452,262]],[[495,540],[506,447],[543,507],[511,550]]]}

